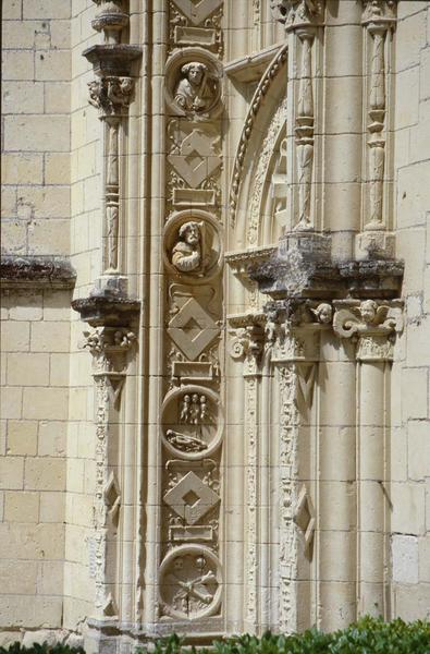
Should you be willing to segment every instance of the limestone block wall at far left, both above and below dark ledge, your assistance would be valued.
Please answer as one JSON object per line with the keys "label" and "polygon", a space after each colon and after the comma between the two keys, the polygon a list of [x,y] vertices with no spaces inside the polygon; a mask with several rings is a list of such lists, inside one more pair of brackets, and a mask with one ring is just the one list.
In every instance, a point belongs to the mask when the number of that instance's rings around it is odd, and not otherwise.
{"label": "limestone block wall at far left, both above and below dark ledge", "polygon": [[[49,255],[48,276],[70,247],[70,15],[67,0],[2,4],[2,253]],[[58,628],[71,292],[15,274],[2,293],[0,629]]]}

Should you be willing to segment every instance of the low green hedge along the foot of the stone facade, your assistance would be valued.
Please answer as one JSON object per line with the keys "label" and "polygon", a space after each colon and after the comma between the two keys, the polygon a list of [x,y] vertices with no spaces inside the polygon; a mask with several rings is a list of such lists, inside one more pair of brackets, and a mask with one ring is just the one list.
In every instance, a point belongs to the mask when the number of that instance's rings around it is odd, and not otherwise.
{"label": "low green hedge along the foot of the stone facade", "polygon": [[[430,654],[430,622],[401,619],[384,622],[364,617],[347,629],[323,633],[316,629],[294,635],[265,633],[261,638],[241,635],[214,641],[210,647],[189,647],[177,635],[156,641],[148,647],[139,647],[136,654]],[[34,645],[23,647],[15,643],[0,654],[84,654],[82,649],[66,645]]]}

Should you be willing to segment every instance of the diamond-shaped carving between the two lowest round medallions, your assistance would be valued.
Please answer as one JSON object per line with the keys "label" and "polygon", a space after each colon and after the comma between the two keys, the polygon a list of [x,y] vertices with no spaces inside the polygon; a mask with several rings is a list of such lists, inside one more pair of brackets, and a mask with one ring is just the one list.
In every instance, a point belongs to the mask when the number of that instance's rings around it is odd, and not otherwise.
{"label": "diamond-shaped carving between the two lowest round medallions", "polygon": [[194,472],[183,476],[163,499],[187,524],[198,522],[220,501],[219,495],[206,486]]}

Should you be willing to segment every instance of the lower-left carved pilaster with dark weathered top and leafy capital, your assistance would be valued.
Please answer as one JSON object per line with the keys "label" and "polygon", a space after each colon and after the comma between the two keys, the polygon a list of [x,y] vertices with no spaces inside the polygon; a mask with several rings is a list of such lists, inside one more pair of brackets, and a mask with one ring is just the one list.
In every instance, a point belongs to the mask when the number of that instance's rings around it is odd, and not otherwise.
{"label": "lower-left carved pilaster with dark weathered top and leafy capital", "polygon": [[94,534],[89,543],[90,573],[96,582],[95,625],[115,622],[119,611],[119,584],[115,556],[119,548],[121,482],[118,449],[121,395],[136,336],[131,327],[139,310],[132,300],[107,301],[85,298],[72,303],[91,331],[84,331],[82,347],[93,355],[96,393],[96,488]]}

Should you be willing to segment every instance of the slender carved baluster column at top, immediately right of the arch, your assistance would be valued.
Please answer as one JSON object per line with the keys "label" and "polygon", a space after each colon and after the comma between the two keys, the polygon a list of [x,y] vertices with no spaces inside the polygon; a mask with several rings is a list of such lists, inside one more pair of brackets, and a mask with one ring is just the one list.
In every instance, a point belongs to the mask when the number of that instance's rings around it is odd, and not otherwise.
{"label": "slender carved baluster column at top, immediately right of the arch", "polygon": [[314,0],[272,0],[271,2],[275,19],[285,24],[286,33],[294,36],[295,52],[300,51],[298,98],[294,119],[298,204],[297,210],[294,211],[293,229],[297,231],[315,229],[311,206],[316,120],[312,46],[317,28],[321,25],[323,4],[323,1]]}

